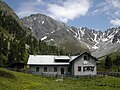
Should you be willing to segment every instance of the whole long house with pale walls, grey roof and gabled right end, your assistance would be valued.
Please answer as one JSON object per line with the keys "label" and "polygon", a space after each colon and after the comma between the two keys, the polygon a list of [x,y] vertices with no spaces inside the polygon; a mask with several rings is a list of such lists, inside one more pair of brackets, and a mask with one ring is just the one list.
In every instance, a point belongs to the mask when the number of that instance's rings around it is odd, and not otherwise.
{"label": "whole long house with pale walls, grey roof and gabled right end", "polygon": [[37,75],[96,75],[97,59],[84,52],[78,56],[30,55],[29,72]]}

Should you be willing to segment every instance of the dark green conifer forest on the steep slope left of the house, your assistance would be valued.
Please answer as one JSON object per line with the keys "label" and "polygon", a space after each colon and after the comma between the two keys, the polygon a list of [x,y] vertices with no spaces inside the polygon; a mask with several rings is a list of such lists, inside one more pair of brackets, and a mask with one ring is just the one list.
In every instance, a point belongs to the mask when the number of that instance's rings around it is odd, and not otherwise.
{"label": "dark green conifer forest on the steep slope left of the house", "polygon": [[0,11],[0,67],[11,63],[26,63],[29,54],[65,54],[56,46],[37,40],[7,11]]}

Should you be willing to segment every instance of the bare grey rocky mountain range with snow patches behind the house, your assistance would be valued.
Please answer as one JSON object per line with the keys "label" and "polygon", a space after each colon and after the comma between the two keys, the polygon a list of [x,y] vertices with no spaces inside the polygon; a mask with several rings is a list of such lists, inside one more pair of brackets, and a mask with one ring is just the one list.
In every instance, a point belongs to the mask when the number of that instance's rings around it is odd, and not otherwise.
{"label": "bare grey rocky mountain range with snow patches behind the house", "polygon": [[[96,57],[116,52],[120,48],[120,27],[96,31],[87,27],[70,27],[43,14],[33,14],[21,19],[24,26],[42,41],[78,53],[89,50]],[[71,44],[71,45],[70,45]]]}

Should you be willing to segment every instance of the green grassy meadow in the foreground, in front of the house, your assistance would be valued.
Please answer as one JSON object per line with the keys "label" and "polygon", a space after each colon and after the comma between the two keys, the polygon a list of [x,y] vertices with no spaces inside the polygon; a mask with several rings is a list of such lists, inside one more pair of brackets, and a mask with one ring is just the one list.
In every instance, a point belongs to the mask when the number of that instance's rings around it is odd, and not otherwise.
{"label": "green grassy meadow in the foreground, in front of the house", "polygon": [[120,90],[120,78],[97,77],[92,79],[66,78],[57,82],[55,78],[46,78],[20,72],[0,69],[10,73],[14,78],[0,76],[0,90]]}

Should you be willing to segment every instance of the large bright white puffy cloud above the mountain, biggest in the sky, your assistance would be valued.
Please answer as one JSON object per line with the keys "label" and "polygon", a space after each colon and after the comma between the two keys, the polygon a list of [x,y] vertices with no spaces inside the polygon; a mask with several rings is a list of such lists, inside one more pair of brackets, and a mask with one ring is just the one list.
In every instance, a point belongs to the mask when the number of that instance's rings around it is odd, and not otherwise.
{"label": "large bright white puffy cloud above the mountain, biggest in the sky", "polygon": [[65,0],[61,4],[49,4],[49,16],[67,23],[80,16],[85,16],[90,8],[90,0]]}

